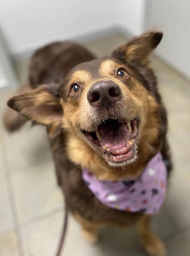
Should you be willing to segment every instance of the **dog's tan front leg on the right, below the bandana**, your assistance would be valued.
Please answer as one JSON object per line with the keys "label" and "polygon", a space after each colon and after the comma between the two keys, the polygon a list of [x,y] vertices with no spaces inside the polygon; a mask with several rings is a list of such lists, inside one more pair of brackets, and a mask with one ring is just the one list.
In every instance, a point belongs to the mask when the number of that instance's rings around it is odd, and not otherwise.
{"label": "dog's tan front leg on the right, below the bandana", "polygon": [[140,239],[146,252],[151,256],[166,256],[165,246],[150,229],[151,215],[144,215],[138,222]]}

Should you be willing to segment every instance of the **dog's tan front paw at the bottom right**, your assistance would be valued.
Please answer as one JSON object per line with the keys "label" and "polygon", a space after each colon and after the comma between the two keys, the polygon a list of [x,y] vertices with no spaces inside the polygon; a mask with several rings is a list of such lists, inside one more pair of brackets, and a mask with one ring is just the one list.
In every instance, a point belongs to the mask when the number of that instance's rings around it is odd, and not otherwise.
{"label": "dog's tan front paw at the bottom right", "polygon": [[152,236],[148,241],[143,242],[144,248],[146,252],[150,256],[166,256],[167,251],[164,246],[164,243],[160,240],[160,238],[157,238],[156,236]]}

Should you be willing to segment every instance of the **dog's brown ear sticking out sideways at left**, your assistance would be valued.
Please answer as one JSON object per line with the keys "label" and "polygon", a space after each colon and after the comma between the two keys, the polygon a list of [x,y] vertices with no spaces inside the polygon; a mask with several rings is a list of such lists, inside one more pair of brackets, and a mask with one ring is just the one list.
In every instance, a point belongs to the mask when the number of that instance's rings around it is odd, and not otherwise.
{"label": "dog's brown ear sticking out sideways at left", "polygon": [[56,84],[41,85],[11,98],[7,104],[29,120],[48,126],[62,120],[63,108],[57,91]]}

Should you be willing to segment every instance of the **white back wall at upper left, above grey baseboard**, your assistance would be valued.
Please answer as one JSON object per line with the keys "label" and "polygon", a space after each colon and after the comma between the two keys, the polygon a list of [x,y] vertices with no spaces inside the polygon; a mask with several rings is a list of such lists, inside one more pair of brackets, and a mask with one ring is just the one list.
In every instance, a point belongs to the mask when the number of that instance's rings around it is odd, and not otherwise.
{"label": "white back wall at upper left, above grey baseboard", "polygon": [[0,26],[11,53],[116,26],[116,0],[0,0]]}

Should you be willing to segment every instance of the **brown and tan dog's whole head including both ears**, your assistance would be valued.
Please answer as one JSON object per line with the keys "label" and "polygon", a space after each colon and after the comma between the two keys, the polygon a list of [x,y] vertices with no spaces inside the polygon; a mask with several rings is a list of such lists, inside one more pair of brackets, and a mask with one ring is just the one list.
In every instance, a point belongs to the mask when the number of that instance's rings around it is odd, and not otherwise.
{"label": "brown and tan dog's whole head including both ears", "polygon": [[111,57],[77,65],[59,85],[39,86],[8,105],[39,124],[62,124],[68,140],[75,141],[73,148],[80,151],[85,144],[109,165],[131,164],[142,150],[146,159],[157,153],[166,133],[156,79],[148,67],[161,38],[161,32],[144,33]]}

